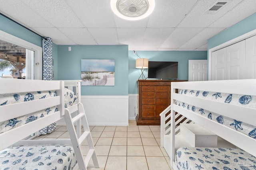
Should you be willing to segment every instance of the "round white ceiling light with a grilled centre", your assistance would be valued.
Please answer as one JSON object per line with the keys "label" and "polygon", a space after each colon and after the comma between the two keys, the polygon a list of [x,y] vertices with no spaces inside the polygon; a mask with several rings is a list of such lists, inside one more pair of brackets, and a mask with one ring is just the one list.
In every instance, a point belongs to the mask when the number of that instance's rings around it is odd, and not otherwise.
{"label": "round white ceiling light with a grilled centre", "polygon": [[112,11],[126,20],[140,20],[154,10],[154,0],[111,0]]}

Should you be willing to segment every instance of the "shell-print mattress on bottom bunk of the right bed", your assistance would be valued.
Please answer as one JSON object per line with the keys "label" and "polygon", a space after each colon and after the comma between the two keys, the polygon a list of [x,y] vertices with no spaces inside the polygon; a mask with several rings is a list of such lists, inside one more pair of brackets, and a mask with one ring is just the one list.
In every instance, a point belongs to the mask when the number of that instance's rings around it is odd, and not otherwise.
{"label": "shell-print mattress on bottom bunk of the right bed", "polygon": [[180,148],[175,164],[179,170],[255,170],[256,157],[242,149]]}

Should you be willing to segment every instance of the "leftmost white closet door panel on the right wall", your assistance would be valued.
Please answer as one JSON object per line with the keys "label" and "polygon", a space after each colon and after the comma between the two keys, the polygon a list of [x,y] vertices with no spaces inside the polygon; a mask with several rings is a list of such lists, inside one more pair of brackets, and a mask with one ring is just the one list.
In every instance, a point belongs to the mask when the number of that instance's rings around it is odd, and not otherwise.
{"label": "leftmost white closet door panel on the right wall", "polygon": [[226,48],[212,52],[212,80],[226,80]]}

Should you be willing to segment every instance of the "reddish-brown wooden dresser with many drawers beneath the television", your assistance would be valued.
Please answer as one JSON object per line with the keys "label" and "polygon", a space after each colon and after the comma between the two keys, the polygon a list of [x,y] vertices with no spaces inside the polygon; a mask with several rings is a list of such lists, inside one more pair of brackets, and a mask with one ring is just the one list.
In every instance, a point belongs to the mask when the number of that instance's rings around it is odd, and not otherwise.
{"label": "reddish-brown wooden dresser with many drawers beneath the television", "polygon": [[137,125],[160,125],[159,114],[171,104],[171,82],[187,80],[138,80]]}

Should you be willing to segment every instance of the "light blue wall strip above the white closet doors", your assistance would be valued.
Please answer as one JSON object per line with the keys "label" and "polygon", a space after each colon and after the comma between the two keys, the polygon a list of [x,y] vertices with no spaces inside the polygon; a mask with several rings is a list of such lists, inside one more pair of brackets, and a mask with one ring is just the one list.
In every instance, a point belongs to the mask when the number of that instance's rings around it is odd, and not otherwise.
{"label": "light blue wall strip above the white closet doors", "polygon": [[256,29],[256,13],[208,39],[208,50]]}

